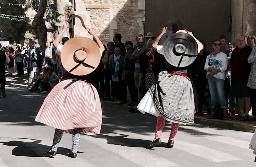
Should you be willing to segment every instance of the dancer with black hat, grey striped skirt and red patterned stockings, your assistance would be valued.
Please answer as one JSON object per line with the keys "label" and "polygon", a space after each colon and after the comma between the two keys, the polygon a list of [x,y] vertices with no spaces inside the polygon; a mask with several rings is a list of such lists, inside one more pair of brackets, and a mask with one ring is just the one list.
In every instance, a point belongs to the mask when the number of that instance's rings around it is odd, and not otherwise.
{"label": "dancer with black hat, grey striped skirt and red patterned stockings", "polygon": [[164,45],[158,45],[166,31],[167,27],[162,28],[152,47],[164,55],[168,71],[159,73],[158,82],[150,87],[138,105],[140,112],[158,117],[155,138],[149,144],[149,148],[161,144],[160,138],[166,120],[172,122],[167,148],[174,146],[180,124],[194,122],[193,88],[186,71],[187,66],[193,63],[197,54],[203,49],[203,45],[186,29],[169,36]]}

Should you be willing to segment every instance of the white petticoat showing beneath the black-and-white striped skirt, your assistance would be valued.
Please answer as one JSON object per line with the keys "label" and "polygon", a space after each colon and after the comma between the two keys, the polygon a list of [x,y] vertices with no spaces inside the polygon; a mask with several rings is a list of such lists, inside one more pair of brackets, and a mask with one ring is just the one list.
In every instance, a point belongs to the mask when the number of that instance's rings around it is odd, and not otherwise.
{"label": "white petticoat showing beneath the black-and-white striped skirt", "polygon": [[145,96],[141,99],[140,103],[137,106],[137,109],[143,114],[149,113],[151,115],[159,117],[158,113],[155,110],[154,101],[149,91],[146,92]]}

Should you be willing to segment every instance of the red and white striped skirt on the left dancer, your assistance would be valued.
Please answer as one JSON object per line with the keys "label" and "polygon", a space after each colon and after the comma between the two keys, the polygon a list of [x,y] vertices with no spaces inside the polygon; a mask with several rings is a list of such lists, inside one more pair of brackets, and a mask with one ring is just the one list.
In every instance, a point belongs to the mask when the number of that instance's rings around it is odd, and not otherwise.
{"label": "red and white striped skirt on the left dancer", "polygon": [[96,88],[83,80],[67,87],[72,81],[64,80],[54,86],[35,121],[70,134],[75,128],[83,128],[82,133],[87,135],[100,134],[102,109]]}

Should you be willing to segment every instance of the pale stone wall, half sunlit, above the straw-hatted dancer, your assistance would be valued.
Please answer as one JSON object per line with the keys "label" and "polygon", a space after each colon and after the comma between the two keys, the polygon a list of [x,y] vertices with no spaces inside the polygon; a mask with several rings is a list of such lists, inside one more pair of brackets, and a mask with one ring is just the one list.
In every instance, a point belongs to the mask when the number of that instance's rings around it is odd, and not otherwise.
{"label": "pale stone wall, half sunlit, above the straw-hatted dancer", "polygon": [[[86,27],[91,27],[106,44],[114,33],[122,35],[122,42],[135,43],[135,34],[144,34],[145,0],[76,0],[75,15],[80,15]],[[74,35],[90,37],[75,18]]]}

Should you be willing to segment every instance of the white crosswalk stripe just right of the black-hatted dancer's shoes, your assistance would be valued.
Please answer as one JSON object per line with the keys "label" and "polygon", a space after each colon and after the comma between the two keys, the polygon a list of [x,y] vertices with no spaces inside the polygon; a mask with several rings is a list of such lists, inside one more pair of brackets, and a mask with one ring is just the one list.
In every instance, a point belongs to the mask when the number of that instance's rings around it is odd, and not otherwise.
{"label": "white crosswalk stripe just right of the black-hatted dancer's shoes", "polygon": [[230,155],[228,153],[211,149],[198,144],[192,144],[190,142],[177,140],[175,141],[175,148],[188,152],[192,155],[205,158],[212,162],[224,162],[224,161],[235,161],[242,160],[242,158]]}

